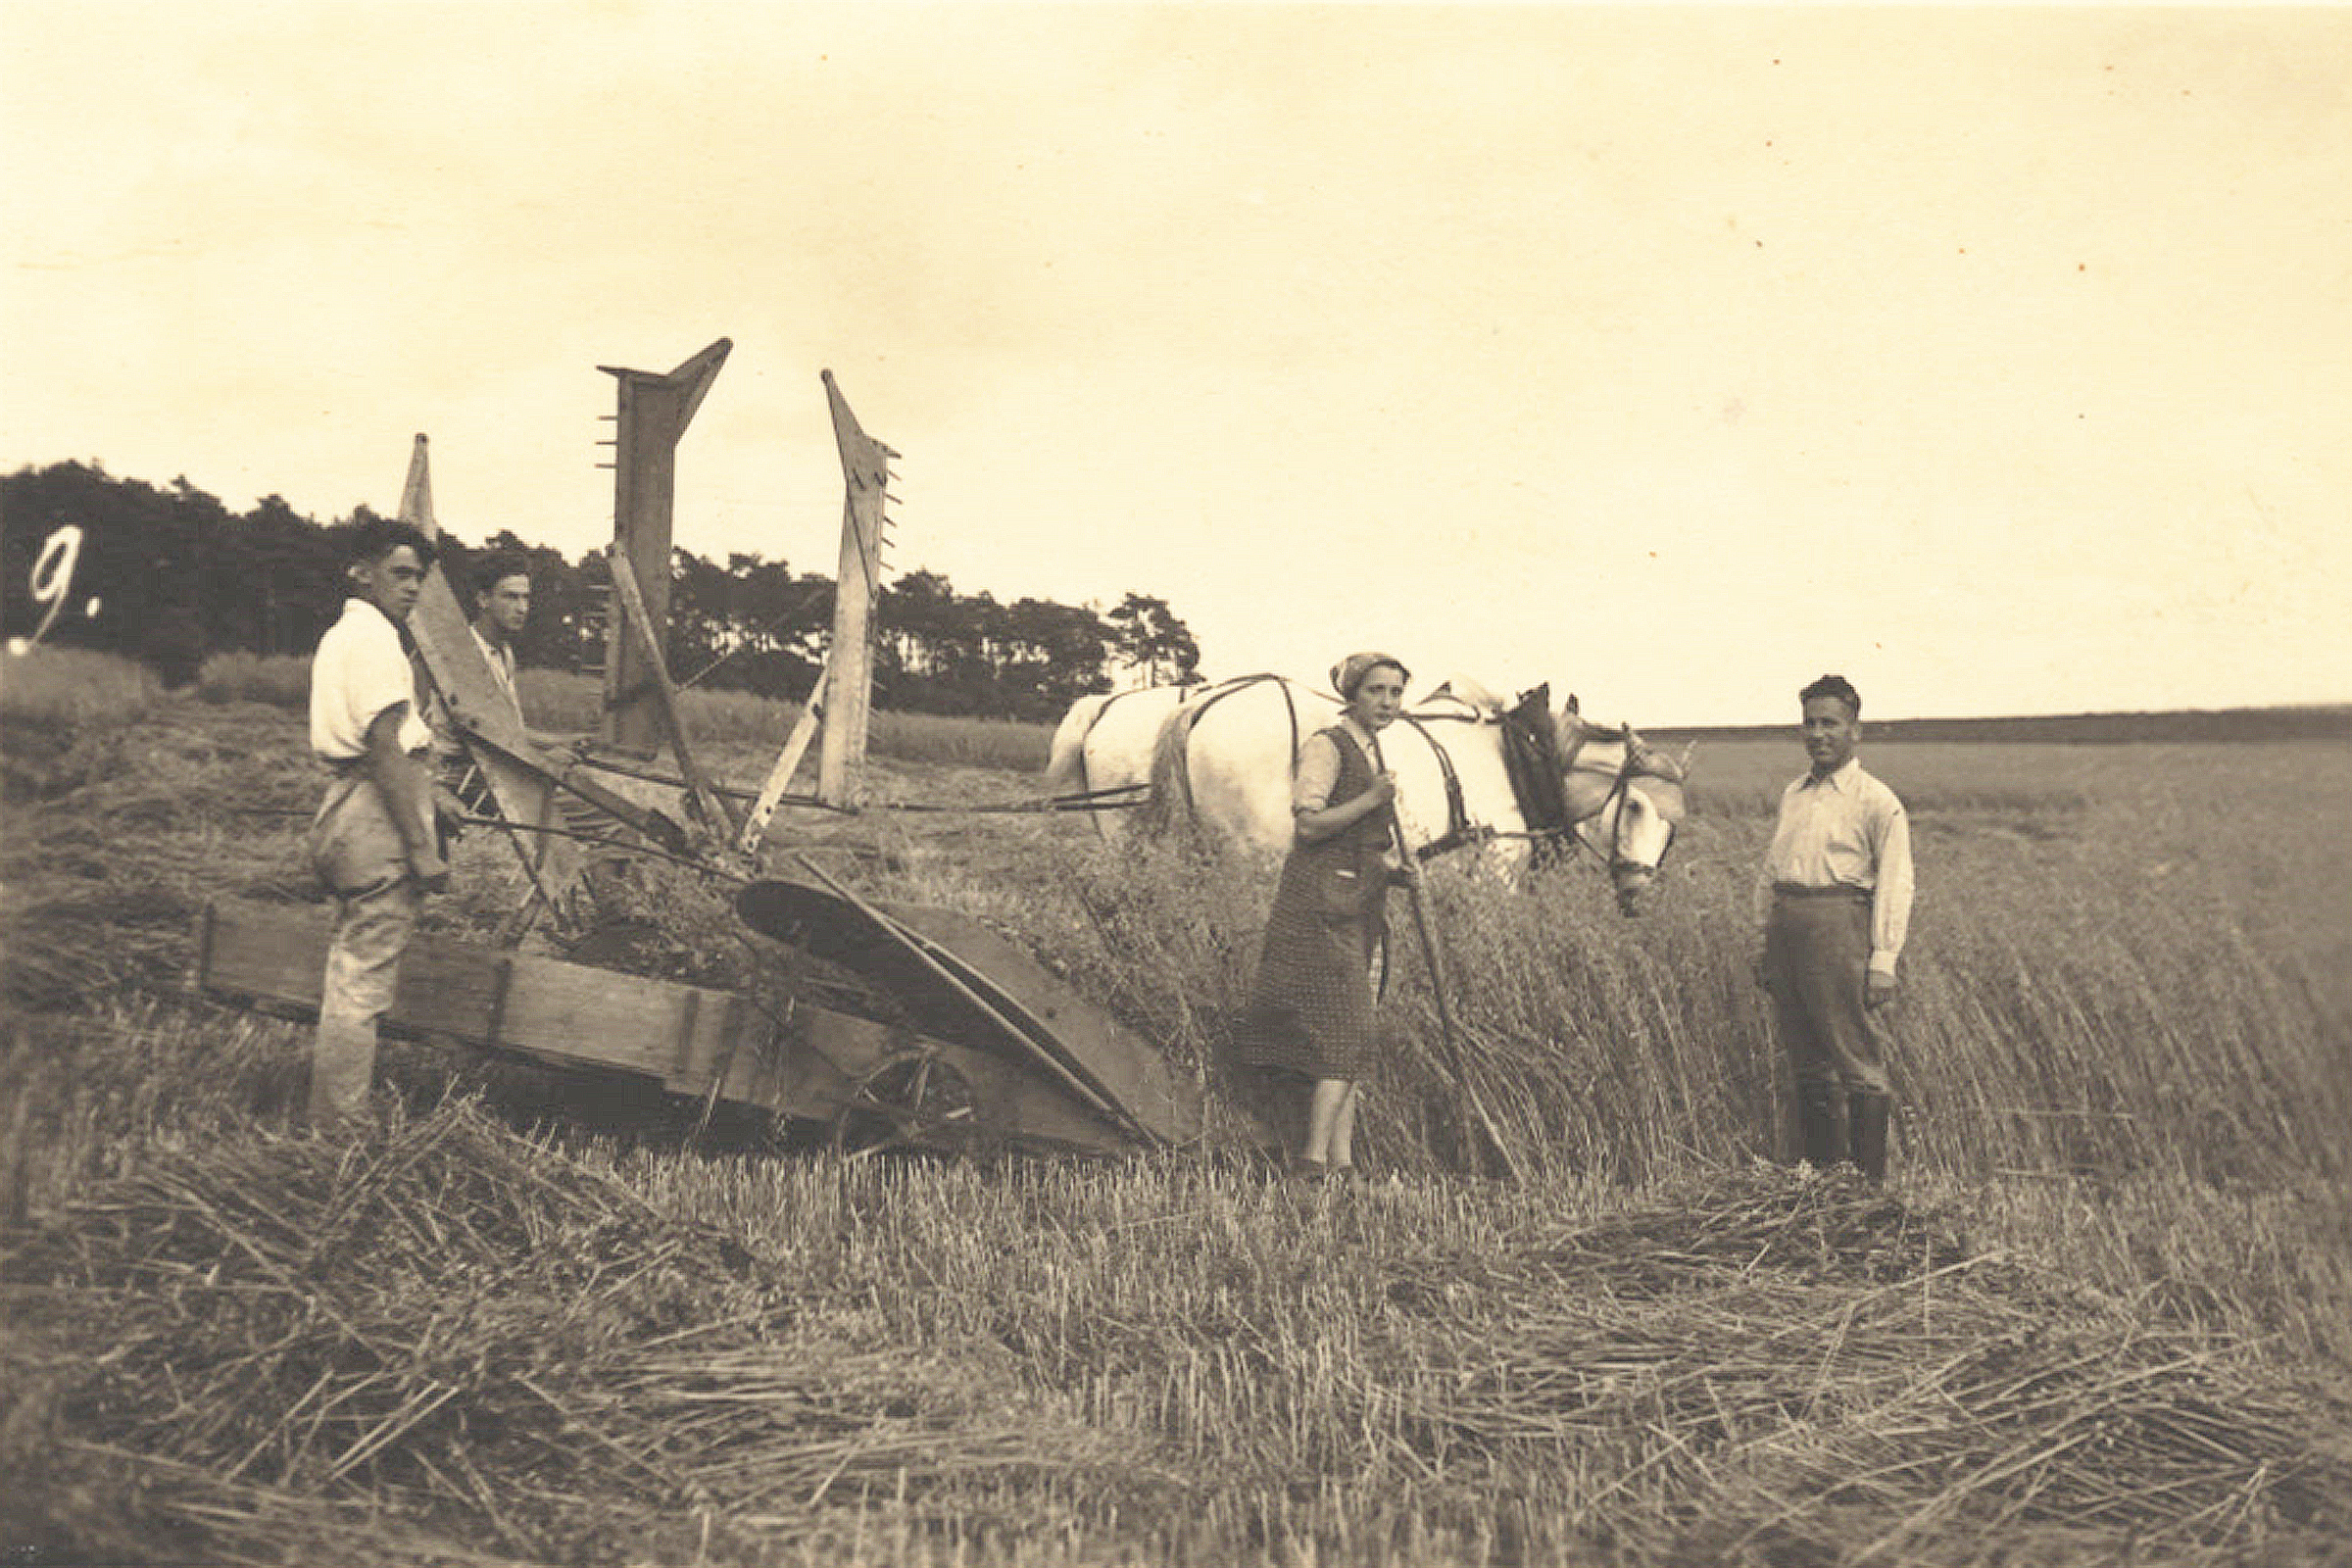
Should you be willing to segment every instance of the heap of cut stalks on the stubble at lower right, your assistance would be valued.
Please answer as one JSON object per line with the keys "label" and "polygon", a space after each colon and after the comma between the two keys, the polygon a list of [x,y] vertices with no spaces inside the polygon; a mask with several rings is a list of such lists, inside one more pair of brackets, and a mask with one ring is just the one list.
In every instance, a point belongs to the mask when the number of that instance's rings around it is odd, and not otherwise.
{"label": "heap of cut stalks on the stubble at lower right", "polygon": [[2340,1401],[1971,1255],[1846,1173],[1712,1178],[1519,1237],[1475,1321],[1418,1284],[1392,1298],[1430,1312],[1421,1443],[1623,1476],[1590,1523],[1637,1561],[1933,1561],[1987,1530],[2173,1561],[2352,1523],[2352,1462],[2314,1443],[2345,1429]]}

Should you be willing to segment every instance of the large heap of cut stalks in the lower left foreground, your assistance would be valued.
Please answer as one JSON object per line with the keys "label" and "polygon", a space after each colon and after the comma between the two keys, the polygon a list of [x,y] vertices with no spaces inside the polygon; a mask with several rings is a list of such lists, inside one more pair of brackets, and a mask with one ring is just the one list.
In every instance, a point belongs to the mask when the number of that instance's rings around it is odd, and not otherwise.
{"label": "large heap of cut stalks in the lower left foreground", "polygon": [[54,1509],[9,1537],[586,1561],[661,1554],[713,1502],[793,1516],[1089,1462],[971,1347],[802,1331],[767,1274],[466,1105],[160,1157],[9,1260],[7,1507]]}

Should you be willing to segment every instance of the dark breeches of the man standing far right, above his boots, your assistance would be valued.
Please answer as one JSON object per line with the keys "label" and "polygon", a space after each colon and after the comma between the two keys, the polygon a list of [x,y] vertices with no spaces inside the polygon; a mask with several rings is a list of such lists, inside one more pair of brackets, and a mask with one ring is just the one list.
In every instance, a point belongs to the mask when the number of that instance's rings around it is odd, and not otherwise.
{"label": "dark breeches of the man standing far right, above his boots", "polygon": [[1886,1093],[1886,1034],[1863,1006],[1870,893],[1780,889],[1764,924],[1764,980],[1797,1093]]}

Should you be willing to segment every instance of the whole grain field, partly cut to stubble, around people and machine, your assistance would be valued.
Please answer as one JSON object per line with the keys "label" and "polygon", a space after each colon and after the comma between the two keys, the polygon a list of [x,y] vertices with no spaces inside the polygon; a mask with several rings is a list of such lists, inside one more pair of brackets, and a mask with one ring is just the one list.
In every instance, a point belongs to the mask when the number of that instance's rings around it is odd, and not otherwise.
{"label": "whole grain field, partly cut to stubble, around people and machine", "polygon": [[[1526,1180],[1463,1173],[1399,947],[1378,1178],[1298,1190],[1232,1112],[1129,1164],[837,1164],[583,1131],[426,1046],[376,1133],[303,1138],[306,1030],[179,985],[207,898],[306,896],[299,715],[101,679],[12,665],[0,741],[33,1561],[2343,1561],[2347,745],[1865,741],[1922,879],[1884,1194],[1766,1164],[1750,877],[1799,757],[1700,748],[1642,922],[1583,865],[1432,877]],[[699,712],[755,780],[781,715]],[[1037,731],[884,745],[884,802],[1040,788]],[[513,907],[480,839],[445,931]],[[1268,867],[1063,816],[774,844],[990,919],[1223,1084]],[[644,914],[670,973],[755,961],[687,875]]]}

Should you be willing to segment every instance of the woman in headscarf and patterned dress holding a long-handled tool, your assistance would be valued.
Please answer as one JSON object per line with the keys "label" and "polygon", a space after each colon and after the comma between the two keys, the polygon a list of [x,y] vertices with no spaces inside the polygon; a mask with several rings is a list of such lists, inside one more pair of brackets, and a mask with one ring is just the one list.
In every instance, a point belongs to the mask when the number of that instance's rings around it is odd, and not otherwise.
{"label": "woman in headscarf and patterned dress holding a long-handled tool", "polygon": [[1265,922],[1265,947],[1242,1016],[1237,1056],[1315,1084],[1301,1175],[1355,1164],[1357,1084],[1374,1065],[1371,961],[1388,929],[1397,780],[1381,731],[1404,708],[1411,672],[1388,654],[1350,654],[1331,670],[1338,724],[1308,736],[1291,788],[1291,851]]}

